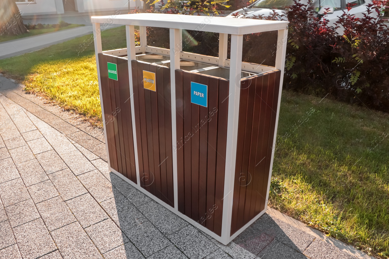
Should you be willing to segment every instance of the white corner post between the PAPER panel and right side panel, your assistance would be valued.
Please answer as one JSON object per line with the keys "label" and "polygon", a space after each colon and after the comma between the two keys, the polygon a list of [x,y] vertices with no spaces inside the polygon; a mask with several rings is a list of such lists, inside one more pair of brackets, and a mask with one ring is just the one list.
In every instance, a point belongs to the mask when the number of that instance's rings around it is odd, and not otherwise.
{"label": "white corner post between the PAPER panel and right side panel", "polygon": [[224,176],[223,221],[221,236],[230,241],[232,201],[237,156],[240,78],[242,70],[243,35],[231,35],[230,86],[228,95],[228,124],[226,146],[226,171]]}

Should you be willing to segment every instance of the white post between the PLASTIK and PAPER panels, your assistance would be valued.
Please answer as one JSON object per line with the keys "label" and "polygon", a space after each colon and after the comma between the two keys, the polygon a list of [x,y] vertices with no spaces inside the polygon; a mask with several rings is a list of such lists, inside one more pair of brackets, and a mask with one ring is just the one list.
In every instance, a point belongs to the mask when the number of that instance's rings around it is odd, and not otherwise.
{"label": "white post between the PLASTIK and PAPER panels", "polygon": [[174,208],[178,210],[177,181],[177,127],[175,109],[175,70],[180,69],[180,30],[170,29],[170,103],[172,106],[172,144],[173,144],[173,186]]}

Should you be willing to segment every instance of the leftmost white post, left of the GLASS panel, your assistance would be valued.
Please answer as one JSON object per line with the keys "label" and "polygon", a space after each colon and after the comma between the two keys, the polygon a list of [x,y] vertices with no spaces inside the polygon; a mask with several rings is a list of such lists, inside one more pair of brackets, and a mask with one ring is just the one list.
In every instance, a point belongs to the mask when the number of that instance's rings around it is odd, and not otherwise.
{"label": "leftmost white post, left of the GLASS panel", "polygon": [[92,28],[93,28],[93,39],[94,39],[94,42],[95,42],[97,80],[98,80],[98,90],[100,92],[100,105],[101,105],[101,116],[102,116],[102,120],[103,120],[105,149],[107,150],[108,165],[111,167],[111,162],[109,160],[109,154],[108,154],[107,128],[105,127],[105,116],[104,116],[104,106],[103,106],[103,92],[102,92],[101,78],[100,78],[100,65],[98,63],[98,54],[103,52],[102,45],[101,45],[100,23],[92,23]]}

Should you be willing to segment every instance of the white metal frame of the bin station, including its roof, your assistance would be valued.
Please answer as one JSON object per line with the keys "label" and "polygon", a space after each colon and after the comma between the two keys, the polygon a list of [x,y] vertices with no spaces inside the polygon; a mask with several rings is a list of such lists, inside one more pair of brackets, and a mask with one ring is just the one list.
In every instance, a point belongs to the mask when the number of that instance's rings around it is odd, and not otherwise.
{"label": "white metal frame of the bin station, including its roof", "polygon": [[[245,224],[232,236],[231,232],[231,217],[232,217],[232,205],[233,205],[233,189],[235,180],[235,158],[237,153],[237,134],[238,134],[238,116],[239,116],[239,100],[240,100],[240,80],[241,71],[248,71],[251,73],[264,73],[275,69],[281,70],[280,78],[280,89],[279,99],[277,104],[277,115],[276,125],[274,131],[274,140],[277,134],[277,124],[279,118],[279,108],[282,91],[282,79],[285,66],[285,54],[286,54],[286,40],[287,40],[287,24],[284,21],[263,21],[263,20],[252,20],[252,19],[237,19],[230,17],[203,17],[203,16],[182,16],[176,14],[126,14],[118,15],[114,18],[116,24],[126,25],[126,39],[127,48],[102,51],[101,36],[100,36],[100,23],[106,22],[107,19],[112,17],[101,16],[91,17],[93,23],[93,34],[95,36],[95,53],[96,53],[96,65],[97,74],[100,90],[100,101],[102,106],[102,116],[104,118],[103,110],[103,98],[100,80],[100,70],[98,64],[98,54],[110,54],[115,56],[127,55],[128,58],[128,75],[130,82],[130,98],[131,98],[131,115],[133,125],[133,142],[134,142],[134,153],[135,153],[135,168],[137,171],[137,184],[133,183],[122,174],[114,170],[110,166],[109,169],[117,174],[119,177],[142,191],[146,195],[150,196],[153,200],[159,202],[167,209],[171,210],[178,216],[182,217],[192,225],[198,227],[208,235],[215,238],[217,241],[228,244],[233,238],[239,235],[245,228],[247,228],[252,222],[256,221],[261,215],[266,212],[268,193],[270,188],[270,179],[274,158],[275,142],[272,146],[272,158],[271,166],[269,171],[269,182],[268,191],[266,195],[266,206],[265,210],[261,211],[256,217],[250,222]],[[134,26],[138,25],[140,28],[140,46],[135,46],[135,33]],[[163,49],[158,47],[151,47],[147,45],[146,38],[146,26],[170,28],[170,49]],[[219,33],[219,57],[211,57],[200,54],[188,53],[182,51],[182,29],[187,30],[200,30],[210,31]],[[242,62],[242,46],[243,46],[243,35],[247,33],[257,33],[262,31],[278,31],[277,41],[277,54],[275,67],[262,66],[258,64]],[[227,59],[227,38],[228,34],[231,34],[231,58]],[[139,176],[139,165],[138,165],[138,150],[137,150],[137,138],[135,129],[135,109],[134,109],[134,97],[133,97],[133,86],[132,86],[132,70],[131,60],[136,59],[136,53],[154,53],[163,56],[170,57],[170,89],[171,89],[171,106],[172,106],[172,147],[173,147],[173,184],[174,184],[174,207],[166,204],[156,196],[152,195],[144,188],[140,186]],[[225,165],[225,176],[224,176],[224,198],[223,198],[223,221],[222,221],[222,234],[221,236],[216,235],[209,229],[201,226],[193,219],[187,217],[178,211],[178,191],[177,191],[177,153],[176,150],[176,104],[175,104],[175,70],[180,69],[180,59],[189,61],[201,62],[210,64],[212,66],[218,66],[222,68],[230,68],[230,87],[229,87],[229,98],[228,98],[228,125],[227,125],[227,148],[226,148],[226,165]],[[166,61],[168,62],[168,61]],[[108,151],[107,134],[104,125],[104,137],[106,148]],[[109,156],[108,156],[109,160]]]}

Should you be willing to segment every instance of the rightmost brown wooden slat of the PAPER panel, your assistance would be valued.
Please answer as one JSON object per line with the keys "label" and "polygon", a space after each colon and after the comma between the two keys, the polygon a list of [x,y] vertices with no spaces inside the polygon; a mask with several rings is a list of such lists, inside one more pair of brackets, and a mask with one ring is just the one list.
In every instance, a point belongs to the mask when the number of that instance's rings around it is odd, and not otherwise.
{"label": "rightmost brown wooden slat of the PAPER panel", "polygon": [[[216,158],[216,188],[215,188],[215,209],[214,232],[221,235],[221,224],[223,216],[224,198],[224,174],[226,167],[226,145],[227,145],[227,117],[228,117],[228,88],[229,82],[219,79],[219,99],[217,120],[217,158]],[[232,195],[230,193],[229,195]]]}

